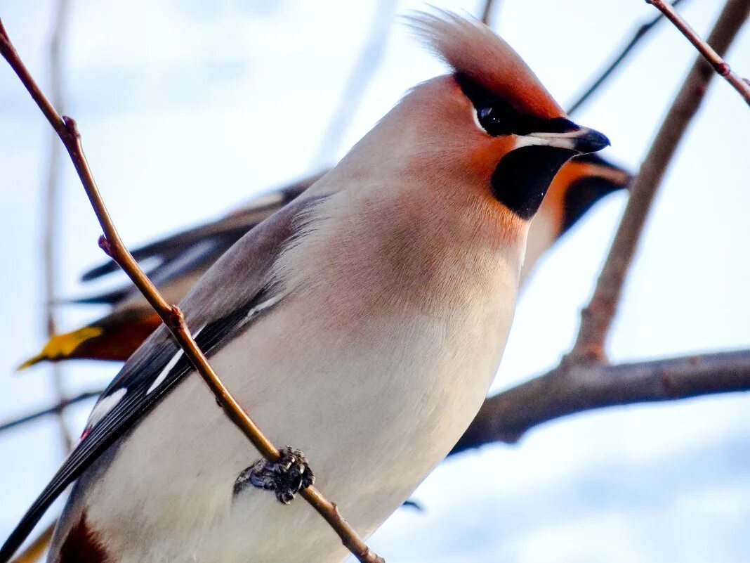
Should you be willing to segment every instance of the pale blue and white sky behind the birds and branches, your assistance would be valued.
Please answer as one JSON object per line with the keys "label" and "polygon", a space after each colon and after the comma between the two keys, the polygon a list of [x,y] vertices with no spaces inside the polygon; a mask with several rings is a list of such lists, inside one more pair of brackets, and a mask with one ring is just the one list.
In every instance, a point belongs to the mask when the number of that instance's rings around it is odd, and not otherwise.
{"label": "pale blue and white sky behind the birds and branches", "polygon": [[[434,2],[478,14],[479,2]],[[680,8],[706,35],[722,2]],[[420,2],[74,0],[65,44],[67,112],[130,245],[213,218],[275,185],[335,164],[403,92],[443,72],[395,14]],[[498,31],[563,106],[653,8],[636,0],[502,0]],[[52,2],[0,0],[17,49],[46,86]],[[368,33],[387,32],[362,103],[339,138],[329,123],[356,92],[347,81]],[[750,75],[750,27],[727,59]],[[376,50],[377,51],[377,50]],[[661,26],[576,121],[637,168],[694,50]],[[344,104],[346,106],[347,104]],[[339,116],[340,118],[341,116]],[[748,133],[739,95],[714,80],[655,201],[608,352],[613,361],[746,348],[750,343]],[[338,139],[338,142],[336,140]],[[49,405],[49,371],[14,367],[43,343],[40,221],[49,131],[0,65],[0,420]],[[92,288],[80,273],[103,256],[74,170],[61,174],[59,294]],[[555,366],[625,203],[608,197],[535,269],[518,303],[493,392]],[[99,286],[98,286],[99,287]],[[65,329],[103,309],[64,308]],[[106,384],[113,364],[65,367],[75,394]],[[80,430],[91,403],[71,409]],[[371,538],[389,561],[438,563],[745,563],[750,554],[750,397],[632,405],[547,423],[519,444],[443,463]],[[0,536],[62,459],[51,419],[0,435]],[[345,507],[342,507],[344,510]],[[52,518],[53,511],[48,514]]]}

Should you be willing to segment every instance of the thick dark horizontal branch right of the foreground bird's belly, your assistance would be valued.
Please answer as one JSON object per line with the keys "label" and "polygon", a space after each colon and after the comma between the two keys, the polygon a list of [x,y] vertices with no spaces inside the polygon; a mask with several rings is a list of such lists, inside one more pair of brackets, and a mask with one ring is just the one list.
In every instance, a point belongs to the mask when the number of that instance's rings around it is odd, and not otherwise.
{"label": "thick dark horizontal branch right of the foreground bird's belly", "polygon": [[595,408],[750,390],[750,350],[619,366],[560,366],[484,402],[451,453],[512,444],[548,420]]}

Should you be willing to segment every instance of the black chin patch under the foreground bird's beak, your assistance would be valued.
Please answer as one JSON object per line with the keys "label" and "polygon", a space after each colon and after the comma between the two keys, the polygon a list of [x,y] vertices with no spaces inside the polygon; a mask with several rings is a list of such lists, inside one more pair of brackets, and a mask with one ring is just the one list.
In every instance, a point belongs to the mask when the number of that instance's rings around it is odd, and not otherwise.
{"label": "black chin patch under the foreground bird's beak", "polygon": [[492,193],[518,217],[528,221],[556,173],[576,151],[557,146],[527,145],[502,157],[492,174]]}

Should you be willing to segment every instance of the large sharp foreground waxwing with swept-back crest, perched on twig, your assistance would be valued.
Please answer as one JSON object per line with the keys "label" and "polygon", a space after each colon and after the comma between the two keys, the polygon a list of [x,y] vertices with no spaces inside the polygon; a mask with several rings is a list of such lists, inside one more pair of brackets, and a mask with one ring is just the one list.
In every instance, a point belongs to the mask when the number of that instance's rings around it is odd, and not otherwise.
{"label": "large sharp foreground waxwing with swept-back crest, perched on twig", "polygon": [[161,326],[0,563],[71,483],[50,563],[343,561],[296,492],[314,480],[368,537],[446,456],[499,366],[529,221],[563,163],[610,143],[478,20],[409,21],[449,71],[410,89],[181,302],[283,458],[260,459]]}

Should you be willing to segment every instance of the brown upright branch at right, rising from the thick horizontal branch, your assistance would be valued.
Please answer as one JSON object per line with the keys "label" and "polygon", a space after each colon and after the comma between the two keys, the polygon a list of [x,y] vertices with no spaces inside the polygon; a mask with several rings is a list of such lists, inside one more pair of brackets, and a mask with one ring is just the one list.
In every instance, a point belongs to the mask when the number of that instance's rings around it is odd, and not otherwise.
{"label": "brown upright branch at right, rising from the thick horizontal branch", "polygon": [[[748,0],[727,1],[708,40],[717,53],[727,51],[747,19],[748,12]],[[640,166],[640,172],[631,185],[625,212],[596,282],[594,294],[581,312],[580,329],[568,360],[604,360],[604,343],[656,190],[714,75],[711,66],[699,56],[661,123]]]}

